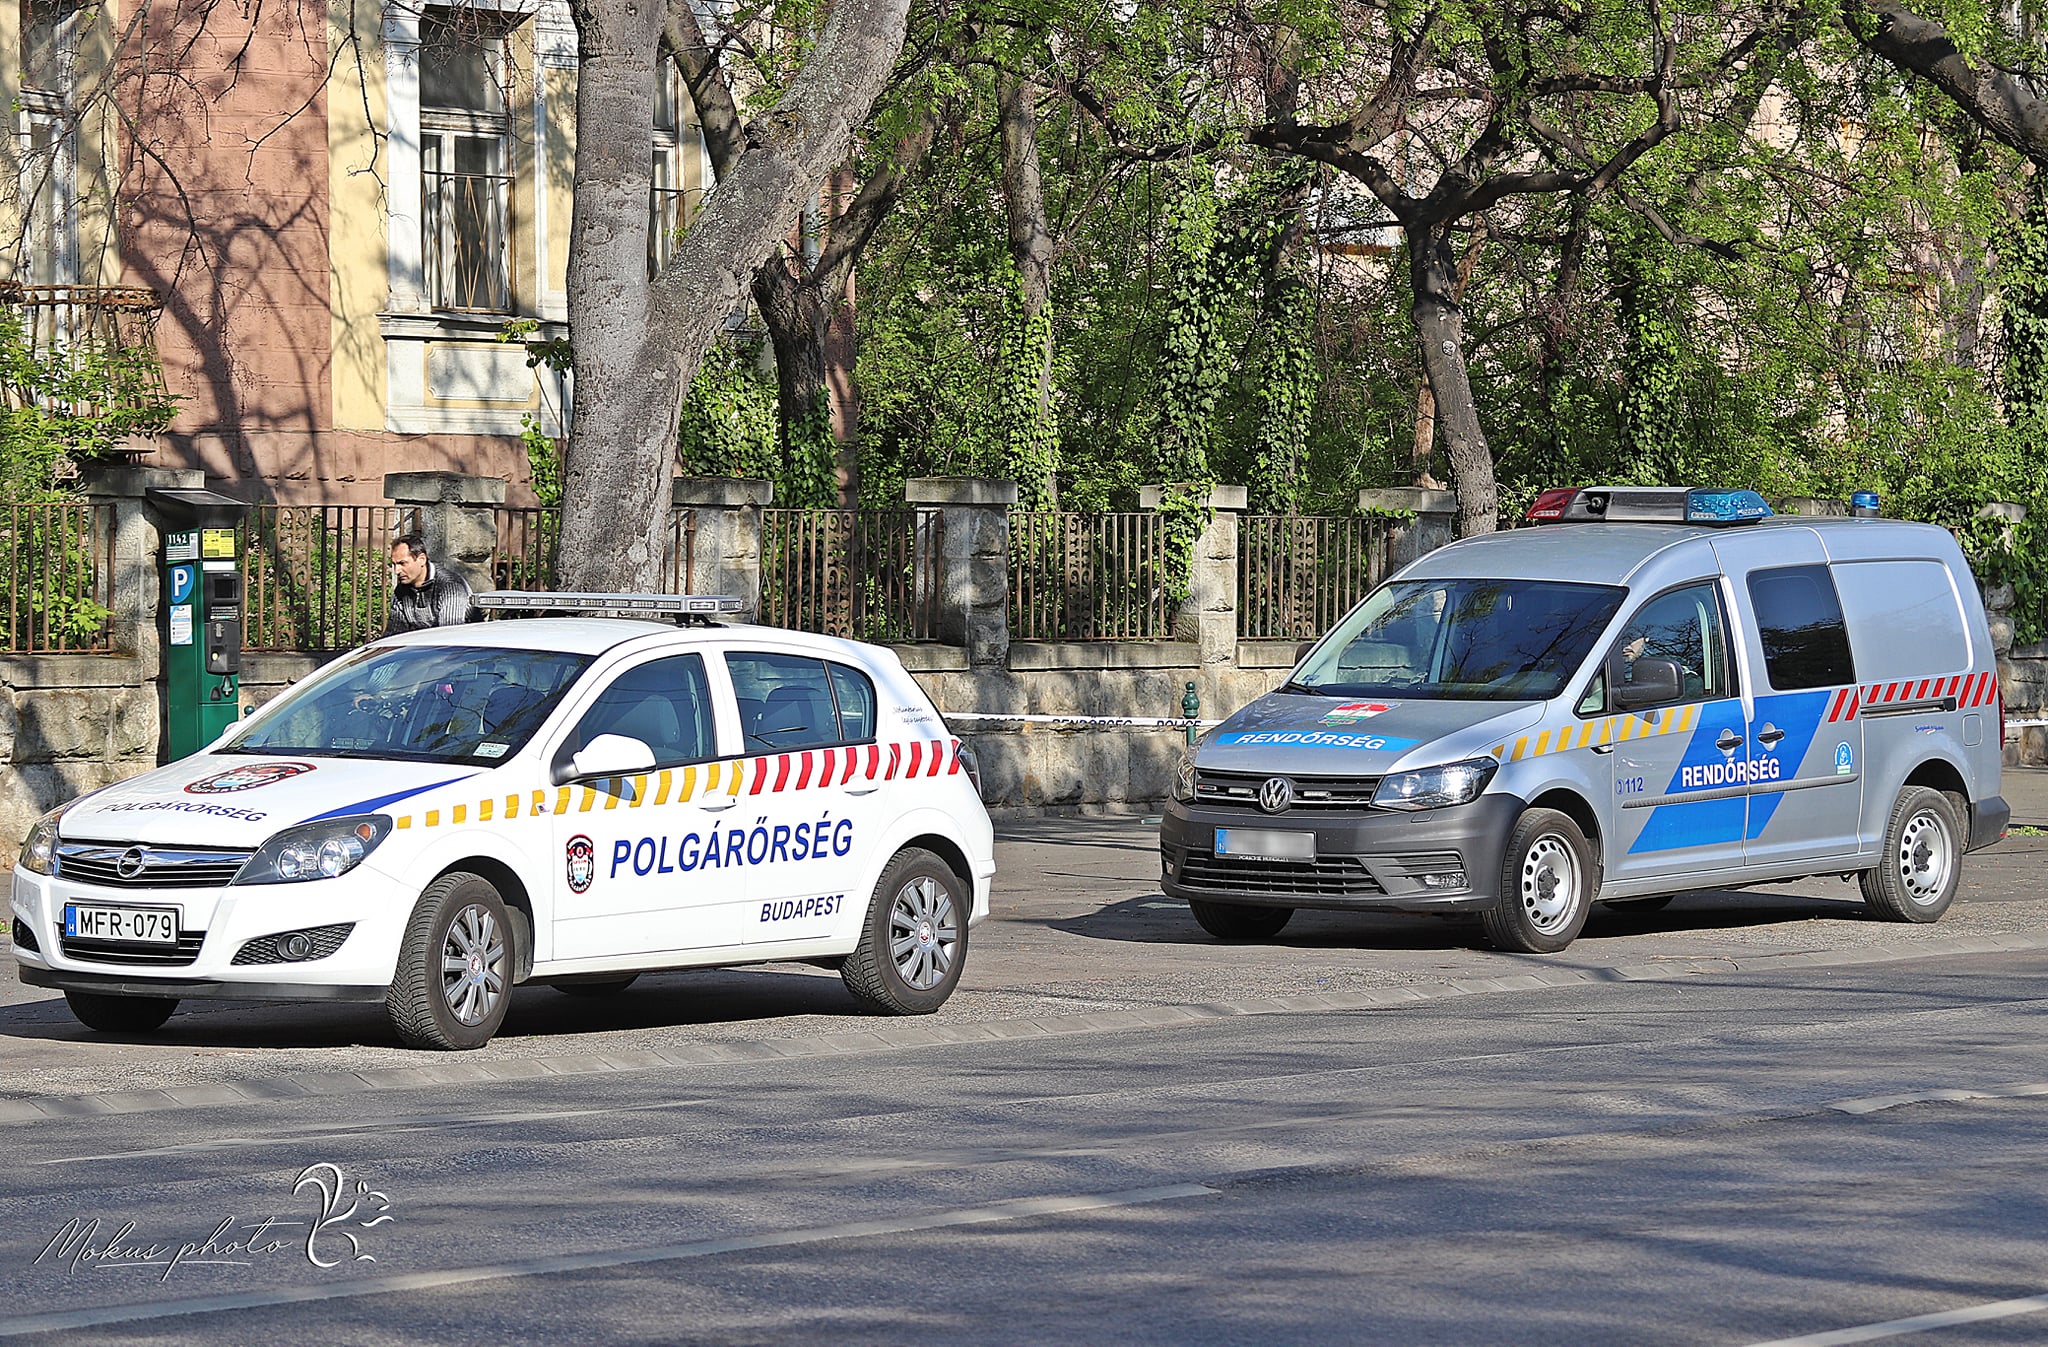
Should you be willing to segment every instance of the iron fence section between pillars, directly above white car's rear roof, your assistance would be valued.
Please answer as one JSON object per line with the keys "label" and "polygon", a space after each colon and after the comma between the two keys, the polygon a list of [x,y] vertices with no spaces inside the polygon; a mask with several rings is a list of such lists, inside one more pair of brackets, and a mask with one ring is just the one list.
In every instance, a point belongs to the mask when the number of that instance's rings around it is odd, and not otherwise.
{"label": "iron fence section between pillars, directly above white car's rear roof", "polygon": [[762,510],[762,622],[936,641],[938,510]]}

